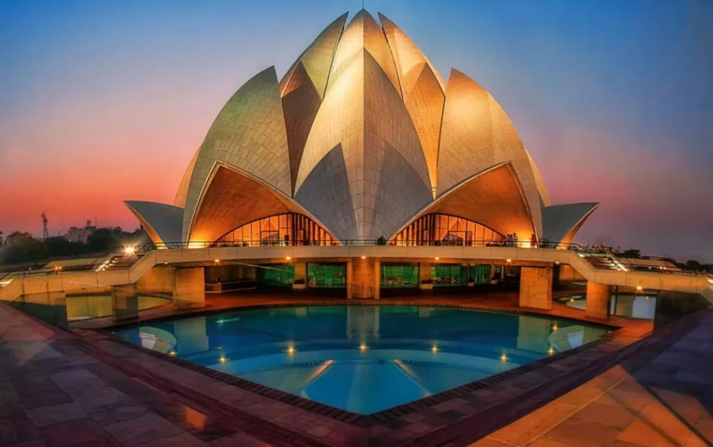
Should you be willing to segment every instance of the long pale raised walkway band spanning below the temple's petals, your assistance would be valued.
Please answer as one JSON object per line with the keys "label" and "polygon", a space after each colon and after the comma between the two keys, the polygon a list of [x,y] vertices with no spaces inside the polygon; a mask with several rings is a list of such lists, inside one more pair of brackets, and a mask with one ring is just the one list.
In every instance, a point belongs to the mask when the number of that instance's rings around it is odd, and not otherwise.
{"label": "long pale raised walkway band spanning below the temple's petals", "polygon": [[701,294],[713,302],[713,278],[672,272],[624,272],[597,269],[571,250],[516,247],[394,247],[394,246],[292,246],[221,247],[183,250],[153,250],[128,269],[106,272],[66,272],[14,279],[0,289],[0,300],[12,301],[24,294],[62,292],[71,289],[133,284],[157,264],[173,266],[210,265],[215,260],[232,262],[285,262],[299,260],[349,260],[362,256],[381,261],[423,260],[433,262],[499,262],[515,265],[570,264],[588,282]]}

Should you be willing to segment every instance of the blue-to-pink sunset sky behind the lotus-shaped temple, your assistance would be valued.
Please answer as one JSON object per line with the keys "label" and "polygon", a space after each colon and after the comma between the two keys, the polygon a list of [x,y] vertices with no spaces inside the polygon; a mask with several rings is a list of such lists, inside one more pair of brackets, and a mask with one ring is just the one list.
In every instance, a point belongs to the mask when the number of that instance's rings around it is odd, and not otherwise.
{"label": "blue-to-pink sunset sky behind the lotus-shaped temple", "polygon": [[[0,231],[173,202],[222,105],[359,0],[0,0]],[[578,242],[713,261],[713,1],[367,0],[501,103]]]}

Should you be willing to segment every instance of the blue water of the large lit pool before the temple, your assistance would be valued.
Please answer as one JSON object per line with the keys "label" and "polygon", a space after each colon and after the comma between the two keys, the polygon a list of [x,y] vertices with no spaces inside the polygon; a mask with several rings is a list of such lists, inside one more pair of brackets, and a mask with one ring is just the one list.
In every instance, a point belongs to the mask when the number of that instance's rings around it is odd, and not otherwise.
{"label": "blue water of the large lit pool before the temple", "polygon": [[607,327],[441,307],[238,310],[118,329],[124,339],[370,414],[599,339]]}

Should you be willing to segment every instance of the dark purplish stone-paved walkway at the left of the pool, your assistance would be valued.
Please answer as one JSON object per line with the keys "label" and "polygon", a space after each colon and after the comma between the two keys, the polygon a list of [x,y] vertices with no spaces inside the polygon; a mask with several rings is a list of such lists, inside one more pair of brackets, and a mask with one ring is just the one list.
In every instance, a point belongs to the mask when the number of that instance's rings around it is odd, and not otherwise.
{"label": "dark purplish stone-paved walkway at the left of the pool", "polygon": [[0,446],[266,446],[0,304]]}

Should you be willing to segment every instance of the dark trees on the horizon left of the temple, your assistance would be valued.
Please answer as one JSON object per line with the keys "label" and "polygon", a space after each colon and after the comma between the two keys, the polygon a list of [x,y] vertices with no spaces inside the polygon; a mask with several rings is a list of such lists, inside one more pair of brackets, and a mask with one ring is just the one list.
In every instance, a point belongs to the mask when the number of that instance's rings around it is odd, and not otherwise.
{"label": "dark trees on the horizon left of the temple", "polygon": [[0,231],[0,265],[39,264],[42,260],[56,257],[81,257],[115,250],[125,245],[143,245],[148,236],[142,228],[126,232],[121,227],[97,228],[87,242],[71,242],[65,237],[55,236],[41,240],[29,232],[11,232],[4,236]]}

